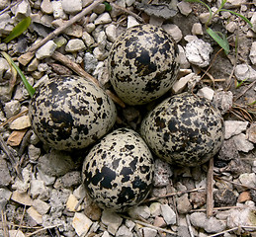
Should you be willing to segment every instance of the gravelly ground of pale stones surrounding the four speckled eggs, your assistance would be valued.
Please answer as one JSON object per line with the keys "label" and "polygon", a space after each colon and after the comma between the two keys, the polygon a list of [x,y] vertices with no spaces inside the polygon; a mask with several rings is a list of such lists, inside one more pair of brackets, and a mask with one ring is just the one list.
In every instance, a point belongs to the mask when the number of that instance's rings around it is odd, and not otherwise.
{"label": "gravelly ground of pale stones surrounding the four speckled eggs", "polygon": [[[206,33],[209,13],[201,4],[117,0],[111,11],[100,4],[65,28],[92,2],[0,1],[1,40],[23,18],[33,21],[18,39],[0,43],[0,50],[19,63],[35,87],[56,74],[84,74],[80,66],[112,90],[106,67],[112,43],[131,26],[162,26],[181,53],[180,79],[168,95],[193,90],[212,100],[225,119],[222,148],[213,166],[180,168],[156,159],[148,199],[123,214],[102,210],[81,185],[82,158],[51,150],[34,134],[27,115],[29,94],[0,57],[0,236],[256,236],[256,4],[226,3],[253,29],[228,12],[213,19],[212,28],[228,37],[230,53],[225,55]],[[208,4],[215,11],[220,2]],[[28,53],[61,27],[63,33]],[[144,109],[117,107],[115,126],[137,129]]]}

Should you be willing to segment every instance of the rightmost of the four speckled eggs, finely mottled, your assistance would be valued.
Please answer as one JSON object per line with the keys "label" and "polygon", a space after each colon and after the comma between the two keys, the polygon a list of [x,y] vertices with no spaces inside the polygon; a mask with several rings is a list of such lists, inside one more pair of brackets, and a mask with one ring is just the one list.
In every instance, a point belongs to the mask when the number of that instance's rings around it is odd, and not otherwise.
{"label": "rightmost of the four speckled eggs, finely mottled", "polygon": [[224,125],[209,100],[185,93],[166,99],[151,111],[141,122],[140,134],[168,163],[198,166],[219,150]]}

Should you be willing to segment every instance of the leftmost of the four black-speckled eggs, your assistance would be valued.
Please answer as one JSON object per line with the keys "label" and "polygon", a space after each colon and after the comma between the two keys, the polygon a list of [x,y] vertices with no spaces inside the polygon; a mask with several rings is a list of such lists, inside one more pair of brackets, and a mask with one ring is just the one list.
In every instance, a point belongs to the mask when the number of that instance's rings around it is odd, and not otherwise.
{"label": "leftmost of the four black-speckled eggs", "polygon": [[32,128],[57,150],[81,149],[114,125],[116,107],[105,92],[78,76],[52,78],[34,94],[29,115]]}

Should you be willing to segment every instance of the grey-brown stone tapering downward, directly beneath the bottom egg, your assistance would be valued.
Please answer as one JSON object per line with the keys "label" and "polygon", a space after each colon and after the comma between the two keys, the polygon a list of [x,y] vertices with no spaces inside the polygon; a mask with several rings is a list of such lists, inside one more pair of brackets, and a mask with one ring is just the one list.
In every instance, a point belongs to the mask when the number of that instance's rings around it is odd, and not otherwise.
{"label": "grey-brown stone tapering downward, directly beneath the bottom egg", "polygon": [[105,209],[102,212],[101,221],[107,226],[108,232],[115,236],[123,222],[123,218],[120,217],[117,213]]}

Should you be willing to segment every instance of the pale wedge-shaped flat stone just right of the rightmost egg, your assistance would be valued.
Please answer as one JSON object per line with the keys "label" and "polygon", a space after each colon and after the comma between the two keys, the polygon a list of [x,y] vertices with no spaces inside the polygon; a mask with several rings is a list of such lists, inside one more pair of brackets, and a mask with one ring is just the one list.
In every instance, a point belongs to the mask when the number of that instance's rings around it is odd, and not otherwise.
{"label": "pale wedge-shaped flat stone just right of the rightmost egg", "polygon": [[225,139],[229,139],[230,137],[245,131],[248,123],[248,121],[225,120]]}

